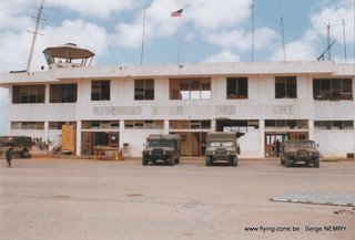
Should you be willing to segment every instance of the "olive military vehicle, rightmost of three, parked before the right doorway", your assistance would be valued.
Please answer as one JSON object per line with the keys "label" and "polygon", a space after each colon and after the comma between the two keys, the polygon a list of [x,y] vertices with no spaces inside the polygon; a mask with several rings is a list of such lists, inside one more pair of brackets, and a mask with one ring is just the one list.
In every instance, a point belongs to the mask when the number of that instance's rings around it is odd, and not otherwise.
{"label": "olive military vehicle, rightmost of three, parked before the right doorway", "polygon": [[314,140],[285,140],[281,145],[280,161],[285,167],[298,161],[320,167],[320,152]]}

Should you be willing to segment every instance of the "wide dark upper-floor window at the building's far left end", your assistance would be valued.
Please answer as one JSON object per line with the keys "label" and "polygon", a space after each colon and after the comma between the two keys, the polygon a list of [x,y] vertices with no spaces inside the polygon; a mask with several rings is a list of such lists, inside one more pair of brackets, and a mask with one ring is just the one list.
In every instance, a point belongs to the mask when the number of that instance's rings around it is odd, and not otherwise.
{"label": "wide dark upper-floor window at the building's far left end", "polygon": [[45,85],[12,86],[12,103],[44,103]]}

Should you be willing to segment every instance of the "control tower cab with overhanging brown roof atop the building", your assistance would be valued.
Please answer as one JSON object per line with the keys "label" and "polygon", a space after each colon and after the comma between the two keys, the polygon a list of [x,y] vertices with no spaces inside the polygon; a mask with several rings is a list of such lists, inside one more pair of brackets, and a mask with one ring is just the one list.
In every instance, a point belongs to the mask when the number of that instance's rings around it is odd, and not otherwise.
{"label": "control tower cab with overhanging brown roof atop the building", "polygon": [[44,56],[50,69],[90,66],[93,52],[78,48],[74,43],[47,48]]}

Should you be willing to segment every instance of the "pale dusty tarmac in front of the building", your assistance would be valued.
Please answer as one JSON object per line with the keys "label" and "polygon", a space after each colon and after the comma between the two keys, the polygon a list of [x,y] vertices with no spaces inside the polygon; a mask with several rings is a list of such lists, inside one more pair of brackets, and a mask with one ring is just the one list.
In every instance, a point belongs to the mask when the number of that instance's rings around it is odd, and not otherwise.
{"label": "pale dusty tarmac in front of the building", "polygon": [[354,207],[270,200],[290,191],[355,195],[355,161],[1,159],[0,240],[355,239]]}

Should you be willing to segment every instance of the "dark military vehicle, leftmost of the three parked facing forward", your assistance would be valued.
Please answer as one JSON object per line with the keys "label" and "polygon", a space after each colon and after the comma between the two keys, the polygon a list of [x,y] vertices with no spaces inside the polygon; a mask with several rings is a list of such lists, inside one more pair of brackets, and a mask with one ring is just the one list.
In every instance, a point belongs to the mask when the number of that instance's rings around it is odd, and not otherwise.
{"label": "dark military vehicle, leftmost of the three parked facing forward", "polygon": [[174,166],[180,159],[180,135],[149,135],[143,150],[142,164],[163,161]]}

